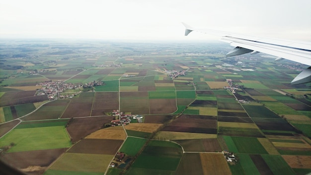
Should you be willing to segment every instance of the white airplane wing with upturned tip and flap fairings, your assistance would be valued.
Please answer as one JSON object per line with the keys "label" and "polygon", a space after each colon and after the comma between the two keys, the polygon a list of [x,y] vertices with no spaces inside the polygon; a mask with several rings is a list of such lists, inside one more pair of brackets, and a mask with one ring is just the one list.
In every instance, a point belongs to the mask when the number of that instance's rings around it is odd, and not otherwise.
{"label": "white airplane wing with upturned tip and flap fairings", "polygon": [[[311,66],[311,42],[289,41],[257,36],[248,36],[237,33],[229,33],[212,29],[197,29],[183,23],[186,27],[185,36],[192,31],[213,34],[221,37],[221,41],[230,43],[235,48],[226,56],[235,56],[245,53],[255,54],[258,52],[277,56],[275,61],[287,59]],[[298,85],[311,82],[311,67],[301,72],[292,82]]]}

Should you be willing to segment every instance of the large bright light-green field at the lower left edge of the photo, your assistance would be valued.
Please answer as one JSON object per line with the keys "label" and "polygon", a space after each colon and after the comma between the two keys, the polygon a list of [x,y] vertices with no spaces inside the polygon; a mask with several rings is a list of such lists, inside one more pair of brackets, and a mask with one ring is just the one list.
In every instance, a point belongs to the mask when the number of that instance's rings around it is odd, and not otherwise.
{"label": "large bright light-green field at the lower left edge of the photo", "polygon": [[14,143],[9,152],[69,148],[72,144],[64,126],[13,129],[0,139],[0,146]]}

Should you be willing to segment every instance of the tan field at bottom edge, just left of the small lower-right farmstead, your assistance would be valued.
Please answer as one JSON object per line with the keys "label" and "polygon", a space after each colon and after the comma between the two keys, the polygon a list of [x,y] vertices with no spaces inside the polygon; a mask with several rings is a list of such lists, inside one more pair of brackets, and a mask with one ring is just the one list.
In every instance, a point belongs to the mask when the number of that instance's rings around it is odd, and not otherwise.
{"label": "tan field at bottom edge, just left of the small lower-right farmstead", "polygon": [[232,175],[222,153],[200,153],[203,175]]}

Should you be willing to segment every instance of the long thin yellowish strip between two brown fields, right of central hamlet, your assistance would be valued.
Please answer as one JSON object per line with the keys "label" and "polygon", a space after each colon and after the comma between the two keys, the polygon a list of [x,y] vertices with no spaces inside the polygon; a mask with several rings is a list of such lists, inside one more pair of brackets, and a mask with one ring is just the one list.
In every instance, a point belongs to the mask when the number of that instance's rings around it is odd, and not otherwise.
{"label": "long thin yellowish strip between two brown fields, right of central hamlet", "polygon": [[183,140],[183,139],[216,139],[217,134],[202,134],[189,132],[160,131],[156,133],[155,139],[159,140]]}

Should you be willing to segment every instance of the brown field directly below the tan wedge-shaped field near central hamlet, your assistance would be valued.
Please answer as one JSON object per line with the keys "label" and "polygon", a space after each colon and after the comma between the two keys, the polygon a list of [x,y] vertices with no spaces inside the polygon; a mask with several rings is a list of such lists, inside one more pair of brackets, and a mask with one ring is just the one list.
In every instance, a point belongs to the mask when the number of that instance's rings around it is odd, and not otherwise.
{"label": "brown field directly below the tan wedge-shaped field near central hamlet", "polygon": [[108,154],[114,155],[123,140],[114,139],[82,139],[68,150],[68,153]]}

